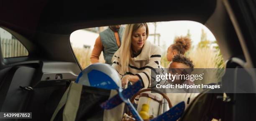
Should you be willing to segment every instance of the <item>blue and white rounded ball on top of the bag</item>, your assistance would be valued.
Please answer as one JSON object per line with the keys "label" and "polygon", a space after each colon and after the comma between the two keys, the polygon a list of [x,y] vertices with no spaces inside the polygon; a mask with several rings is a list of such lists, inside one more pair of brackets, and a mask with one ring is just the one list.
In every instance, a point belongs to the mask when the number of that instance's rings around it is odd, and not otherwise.
{"label": "blue and white rounded ball on top of the bag", "polygon": [[119,89],[121,81],[118,72],[109,64],[96,63],[80,72],[76,83],[103,89]]}

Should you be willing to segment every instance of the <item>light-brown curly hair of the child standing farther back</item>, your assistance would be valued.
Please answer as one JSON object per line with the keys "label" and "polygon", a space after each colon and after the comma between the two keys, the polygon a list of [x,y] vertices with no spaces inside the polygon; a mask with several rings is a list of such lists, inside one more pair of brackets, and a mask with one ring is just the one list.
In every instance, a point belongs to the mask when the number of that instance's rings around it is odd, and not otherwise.
{"label": "light-brown curly hair of the child standing farther back", "polygon": [[179,54],[185,54],[191,47],[191,39],[187,36],[175,37],[174,44],[171,45],[172,49],[176,49]]}

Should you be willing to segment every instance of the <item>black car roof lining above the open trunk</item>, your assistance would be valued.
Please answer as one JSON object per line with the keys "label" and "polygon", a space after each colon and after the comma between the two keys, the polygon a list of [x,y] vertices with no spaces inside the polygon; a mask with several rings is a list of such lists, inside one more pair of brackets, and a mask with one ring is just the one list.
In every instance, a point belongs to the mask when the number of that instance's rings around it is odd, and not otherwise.
{"label": "black car roof lining above the open trunk", "polygon": [[[171,3],[138,1],[131,4],[69,0],[17,2],[3,1],[0,5],[0,15],[6,17],[0,18],[0,24],[13,30],[64,35],[88,27],[138,22],[191,20],[204,24],[216,5],[215,0],[176,0]],[[10,7],[13,9],[9,9]],[[145,9],[142,9],[143,7]]]}

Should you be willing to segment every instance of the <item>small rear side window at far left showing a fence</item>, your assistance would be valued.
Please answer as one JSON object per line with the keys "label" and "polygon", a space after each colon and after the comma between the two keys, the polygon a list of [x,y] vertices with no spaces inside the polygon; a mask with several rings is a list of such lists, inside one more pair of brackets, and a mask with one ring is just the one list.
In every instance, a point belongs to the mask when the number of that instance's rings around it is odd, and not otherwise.
{"label": "small rear side window at far left showing a fence", "polygon": [[0,27],[0,45],[3,58],[28,56],[28,50],[10,32]]}

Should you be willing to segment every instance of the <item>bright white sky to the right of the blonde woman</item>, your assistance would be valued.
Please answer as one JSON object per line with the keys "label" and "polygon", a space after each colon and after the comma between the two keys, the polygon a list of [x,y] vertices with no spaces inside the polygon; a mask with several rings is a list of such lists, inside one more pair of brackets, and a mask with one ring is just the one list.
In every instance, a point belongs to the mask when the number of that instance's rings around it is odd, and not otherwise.
{"label": "bright white sky to the right of the blonde woman", "polygon": [[[154,24],[148,24],[149,33],[154,33]],[[157,22],[156,33],[161,35],[160,37],[160,46],[163,44],[170,45],[174,42],[176,36],[185,36],[187,31],[190,31],[192,45],[197,45],[201,39],[202,29],[207,33],[207,38],[210,41],[215,41],[215,37],[212,35],[212,32],[202,25],[199,22],[193,21],[171,21],[171,22]],[[151,42],[154,42],[154,37],[148,38]]]}

